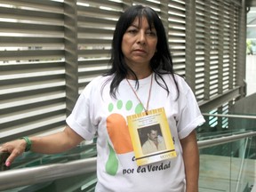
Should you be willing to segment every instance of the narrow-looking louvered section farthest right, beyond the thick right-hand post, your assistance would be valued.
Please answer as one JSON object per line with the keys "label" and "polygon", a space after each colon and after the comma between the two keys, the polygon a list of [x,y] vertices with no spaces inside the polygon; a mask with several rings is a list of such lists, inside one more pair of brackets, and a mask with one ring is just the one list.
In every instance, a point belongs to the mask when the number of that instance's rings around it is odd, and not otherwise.
{"label": "narrow-looking louvered section farthest right, beyond the thick right-hand post", "polygon": [[211,100],[236,84],[238,5],[196,0],[196,98]]}

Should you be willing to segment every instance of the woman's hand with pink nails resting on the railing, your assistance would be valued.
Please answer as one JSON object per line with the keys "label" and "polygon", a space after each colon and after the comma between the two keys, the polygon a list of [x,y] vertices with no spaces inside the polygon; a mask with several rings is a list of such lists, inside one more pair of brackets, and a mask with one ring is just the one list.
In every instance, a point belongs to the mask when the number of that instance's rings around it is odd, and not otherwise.
{"label": "woman's hand with pink nails resting on the railing", "polygon": [[25,151],[26,146],[25,140],[12,140],[0,146],[0,152],[10,153],[10,156],[5,161],[5,165],[9,167],[14,159]]}

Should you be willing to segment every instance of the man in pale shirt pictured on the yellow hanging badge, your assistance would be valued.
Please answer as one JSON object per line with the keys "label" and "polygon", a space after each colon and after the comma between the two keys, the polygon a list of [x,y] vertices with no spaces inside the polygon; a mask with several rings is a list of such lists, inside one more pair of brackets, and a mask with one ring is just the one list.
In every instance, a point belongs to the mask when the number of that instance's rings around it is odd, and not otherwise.
{"label": "man in pale shirt pictured on the yellow hanging badge", "polygon": [[147,131],[148,139],[142,145],[144,155],[166,149],[164,138],[160,135],[161,130],[159,124],[148,126],[145,130]]}

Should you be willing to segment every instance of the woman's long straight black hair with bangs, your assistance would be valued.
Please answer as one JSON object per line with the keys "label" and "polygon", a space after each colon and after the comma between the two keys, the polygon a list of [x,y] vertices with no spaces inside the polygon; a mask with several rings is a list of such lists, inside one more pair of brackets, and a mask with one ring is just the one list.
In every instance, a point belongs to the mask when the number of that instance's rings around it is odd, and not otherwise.
{"label": "woman's long straight black hair with bangs", "polygon": [[[111,84],[110,84],[110,94],[114,98],[116,98],[116,91],[118,89],[121,81],[126,78],[126,76],[131,73],[132,76],[135,77],[137,87],[139,88],[139,80],[136,74],[132,71],[132,68],[124,61],[124,54],[122,52],[122,41],[124,33],[127,28],[132,25],[132,22],[139,18],[141,20],[142,17],[146,17],[148,20],[149,28],[152,26],[156,29],[157,34],[157,44],[156,50],[157,52],[150,60],[150,67],[153,72],[155,72],[155,79],[157,84],[159,84],[164,90],[166,90],[167,94],[169,94],[169,89],[167,84],[165,83],[162,74],[171,74],[176,85],[179,97],[179,87],[174,77],[173,64],[172,64],[172,56],[169,50],[169,46],[167,43],[167,38],[164,30],[164,25],[157,13],[150,7],[145,7],[143,5],[133,5],[129,7],[116,22],[116,29],[114,32],[113,40],[112,40],[112,50],[111,50],[111,58],[109,60],[109,64],[112,66],[108,70],[104,76],[113,76]],[[162,79],[162,83],[160,83],[156,76],[159,76]]]}

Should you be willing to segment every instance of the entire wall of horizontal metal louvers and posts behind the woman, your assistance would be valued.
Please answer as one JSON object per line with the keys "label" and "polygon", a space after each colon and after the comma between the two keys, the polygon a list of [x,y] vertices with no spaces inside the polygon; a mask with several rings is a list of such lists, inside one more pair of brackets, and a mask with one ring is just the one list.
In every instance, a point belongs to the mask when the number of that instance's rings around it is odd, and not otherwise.
{"label": "entire wall of horizontal metal louvers and posts behind the woman", "polygon": [[[237,78],[243,67],[238,65],[241,3],[192,3],[0,0],[1,142],[62,129],[84,86],[109,68],[116,20],[132,4],[159,14],[174,70],[198,102],[232,92],[241,85]],[[226,113],[229,104],[216,102],[216,111]]]}

